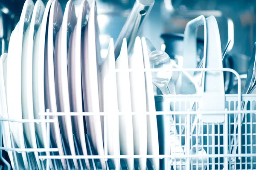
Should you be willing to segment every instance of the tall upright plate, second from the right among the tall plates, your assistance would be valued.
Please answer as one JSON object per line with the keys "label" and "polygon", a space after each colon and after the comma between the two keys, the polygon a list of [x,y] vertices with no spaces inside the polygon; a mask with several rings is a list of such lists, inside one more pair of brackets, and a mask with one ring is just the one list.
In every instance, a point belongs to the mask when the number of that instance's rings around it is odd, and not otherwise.
{"label": "tall upright plate, second from the right among the tall plates", "polygon": [[[81,88],[81,29],[83,29],[84,26],[87,24],[89,11],[90,7],[88,2],[86,0],[83,0],[79,7],[76,27],[74,28],[72,38],[70,37],[68,79],[71,112],[83,112],[83,99]],[[75,116],[74,122],[76,135],[79,139],[79,143],[81,144],[83,155],[87,155],[83,116]],[[89,159],[85,159],[85,163],[87,168],[89,169]]]}

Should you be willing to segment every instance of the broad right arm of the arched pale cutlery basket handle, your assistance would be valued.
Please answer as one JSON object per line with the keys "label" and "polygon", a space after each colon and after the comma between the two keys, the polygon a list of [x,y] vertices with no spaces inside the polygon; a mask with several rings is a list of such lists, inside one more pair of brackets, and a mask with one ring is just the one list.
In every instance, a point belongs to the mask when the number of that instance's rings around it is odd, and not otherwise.
{"label": "broad right arm of the arched pale cutlery basket handle", "polygon": [[[206,51],[204,51],[203,68],[223,68],[221,53],[221,38],[218,23],[214,16],[206,19],[207,39]],[[224,111],[225,110],[225,87],[223,72],[203,72],[202,79],[202,111]],[[204,114],[202,121],[207,123],[224,122],[224,114]]]}

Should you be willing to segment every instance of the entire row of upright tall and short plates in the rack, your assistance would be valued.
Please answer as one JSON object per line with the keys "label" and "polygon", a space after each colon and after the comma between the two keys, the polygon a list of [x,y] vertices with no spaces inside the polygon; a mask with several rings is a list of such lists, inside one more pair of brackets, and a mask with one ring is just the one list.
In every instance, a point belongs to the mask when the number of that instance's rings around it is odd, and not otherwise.
{"label": "entire row of upright tall and short plates in the rack", "polygon": [[[154,91],[151,73],[128,72],[128,68],[150,68],[144,38],[136,38],[129,59],[124,39],[116,61],[111,39],[108,56],[102,59],[96,11],[95,1],[90,7],[86,0],[82,1],[76,17],[71,0],[64,13],[58,0],[49,0],[46,6],[41,0],[35,4],[26,0],[20,20],[12,31],[8,54],[0,57],[1,116],[45,119],[39,113],[46,109],[53,113],[108,112],[105,118],[96,115],[85,116],[85,119],[83,116],[58,117],[58,122],[50,127],[51,143],[52,147],[58,147],[60,156],[79,155],[76,147],[81,148],[80,155],[87,155],[86,136],[89,136],[95,155],[104,156],[107,150],[109,155],[116,156],[112,161],[119,170],[120,155],[159,155],[157,118],[140,114],[155,111]],[[117,111],[137,114],[113,114]],[[103,119],[106,119],[105,125]],[[19,148],[47,146],[45,123],[5,122],[3,130],[5,147],[13,146],[12,136]],[[78,142],[74,142],[75,138]],[[44,169],[38,152],[17,154],[18,164],[14,163],[13,153],[8,154],[13,169]],[[30,167],[32,157],[35,167]],[[130,170],[134,169],[134,164],[141,170],[146,169],[146,158],[124,161]],[[148,161],[154,169],[159,169],[159,159]],[[70,168],[67,162],[61,159],[58,168]],[[81,168],[79,160],[71,162],[72,169]],[[87,169],[92,168],[89,159],[84,162]],[[99,162],[102,169],[107,169],[105,159]],[[54,164],[53,160],[49,161],[51,169],[55,169]]]}

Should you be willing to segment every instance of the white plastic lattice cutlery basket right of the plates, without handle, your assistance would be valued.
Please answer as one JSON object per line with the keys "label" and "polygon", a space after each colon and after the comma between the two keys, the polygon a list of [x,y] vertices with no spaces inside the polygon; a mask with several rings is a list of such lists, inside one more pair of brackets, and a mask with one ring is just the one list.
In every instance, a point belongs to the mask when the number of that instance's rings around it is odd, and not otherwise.
{"label": "white plastic lattice cutlery basket right of the plates, without handle", "polygon": [[[177,129],[177,134],[172,137],[180,139],[180,146],[184,150],[185,154],[181,154],[184,156],[182,157],[178,152],[177,156],[170,156],[172,166],[176,166],[177,169],[188,168],[190,170],[201,170],[203,167],[202,161],[204,160],[204,169],[207,170],[247,170],[256,168],[256,115],[254,114],[256,107],[256,95],[242,95],[241,99],[246,102],[247,111],[244,115],[244,120],[241,120],[239,123],[241,126],[238,126],[238,128],[240,129],[237,129],[236,131],[233,130],[234,126],[237,125],[237,121],[235,119],[236,114],[242,114],[244,112],[236,111],[238,106],[237,95],[227,94],[225,97],[226,110],[222,112],[215,112],[215,114],[224,113],[225,121],[223,123],[197,122],[194,133],[192,133],[192,126],[195,117],[200,114],[214,113],[214,111],[209,111],[208,113],[201,111],[187,111],[187,109],[192,108],[194,102],[197,103],[196,108],[198,108],[198,102],[201,100],[200,96],[170,95],[155,97],[157,111],[170,107],[170,104],[171,106],[174,106],[173,110],[178,110],[172,111],[171,113],[174,119],[173,125]],[[158,115],[158,117],[159,116],[163,115]],[[183,126],[185,127],[185,130],[181,133]],[[202,132],[201,134],[198,134],[200,126]],[[198,136],[201,136],[201,146],[196,145],[198,142]],[[237,143],[235,142],[232,144],[232,138],[236,137],[238,138],[235,139],[238,140]],[[202,155],[202,152],[198,151],[198,155],[193,155],[192,149],[197,149],[199,147],[203,147],[207,154]],[[236,148],[236,152],[230,154],[232,147]],[[181,159],[184,159],[184,161],[182,168],[179,168]]]}

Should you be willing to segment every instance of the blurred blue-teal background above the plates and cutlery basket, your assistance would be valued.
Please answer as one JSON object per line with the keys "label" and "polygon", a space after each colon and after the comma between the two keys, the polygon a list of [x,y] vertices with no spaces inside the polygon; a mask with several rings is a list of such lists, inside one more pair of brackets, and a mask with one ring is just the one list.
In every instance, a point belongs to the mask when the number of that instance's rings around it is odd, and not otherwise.
{"label": "blurred blue-teal background above the plates and cutlery basket", "polygon": [[[19,20],[25,0],[0,0],[3,21],[0,36],[8,44],[9,36]],[[43,0],[45,3],[47,0]],[[76,8],[81,0],[73,0]],[[88,0],[91,3],[92,0]],[[59,0],[64,11],[67,0]],[[111,37],[117,39],[135,0],[97,0],[98,22],[102,56],[106,55]],[[201,14],[217,18],[224,48],[231,39],[228,54],[234,59],[234,68],[246,74],[253,43],[256,41],[255,0],[155,0],[151,13],[143,24],[140,36],[148,37],[157,49],[165,49],[170,56],[181,55],[186,23]],[[199,27],[198,40],[203,41],[203,27]],[[165,45],[162,45],[165,44]],[[3,46],[3,45],[2,45]],[[2,51],[6,51],[2,47]],[[233,48],[232,48],[233,47]],[[201,53],[200,48],[198,53]]]}

